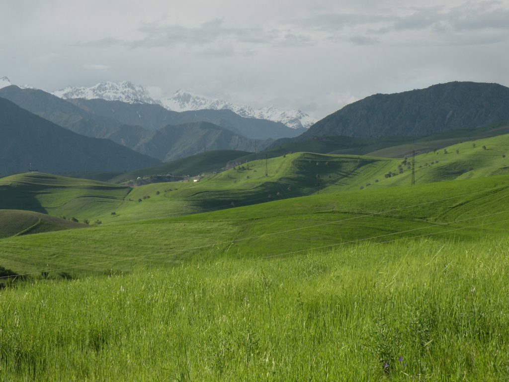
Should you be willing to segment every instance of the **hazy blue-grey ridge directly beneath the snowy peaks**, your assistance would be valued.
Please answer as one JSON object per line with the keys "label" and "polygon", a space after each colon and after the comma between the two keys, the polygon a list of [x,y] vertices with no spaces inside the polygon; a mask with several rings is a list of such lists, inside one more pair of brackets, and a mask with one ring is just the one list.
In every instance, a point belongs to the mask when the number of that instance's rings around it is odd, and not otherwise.
{"label": "hazy blue-grey ridge directly beneath the snowy peaks", "polygon": [[256,118],[244,118],[231,110],[197,110],[173,112],[155,104],[143,102],[105,101],[103,99],[70,99],[68,102],[96,117],[116,120],[123,125],[140,125],[157,130],[167,125],[190,122],[210,122],[244,137],[258,140],[296,137],[302,129],[292,129],[282,123]]}

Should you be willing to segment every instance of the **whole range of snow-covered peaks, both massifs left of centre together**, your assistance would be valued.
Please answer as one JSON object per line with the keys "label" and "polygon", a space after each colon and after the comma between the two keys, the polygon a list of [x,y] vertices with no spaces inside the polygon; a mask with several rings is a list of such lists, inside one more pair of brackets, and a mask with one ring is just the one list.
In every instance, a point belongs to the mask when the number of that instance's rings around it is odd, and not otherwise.
{"label": "whole range of snow-covered peaks, both massifs left of centre together", "polygon": [[[186,112],[196,110],[231,110],[244,118],[265,119],[273,122],[281,122],[286,126],[304,132],[313,125],[316,120],[300,110],[281,110],[274,106],[254,109],[246,105],[236,105],[230,102],[208,98],[186,91],[178,91],[171,97],[161,99],[152,98],[150,93],[143,87],[132,84],[129,81],[104,82],[86,87],[67,87],[52,93],[63,99],[104,99],[107,101],[145,102],[159,104],[167,110],[174,112]],[[275,138],[275,137],[271,137]]]}

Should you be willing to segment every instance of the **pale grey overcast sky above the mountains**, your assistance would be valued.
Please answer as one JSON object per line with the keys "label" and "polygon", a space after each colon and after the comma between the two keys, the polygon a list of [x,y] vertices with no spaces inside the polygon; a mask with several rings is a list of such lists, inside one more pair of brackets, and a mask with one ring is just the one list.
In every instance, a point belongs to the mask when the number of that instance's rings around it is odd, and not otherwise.
{"label": "pale grey overcast sky above the mountains", "polygon": [[0,0],[0,20],[0,76],[46,91],[130,80],[320,119],[374,93],[509,86],[509,0]]}

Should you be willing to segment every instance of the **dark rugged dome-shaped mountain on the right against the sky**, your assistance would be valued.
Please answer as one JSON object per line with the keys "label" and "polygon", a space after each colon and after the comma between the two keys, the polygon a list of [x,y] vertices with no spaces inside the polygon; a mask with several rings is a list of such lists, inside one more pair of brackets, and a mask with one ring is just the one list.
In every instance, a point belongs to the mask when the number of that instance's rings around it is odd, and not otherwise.
{"label": "dark rugged dome-shaped mountain on the right against the sky", "polygon": [[397,94],[375,94],[315,123],[297,140],[348,137],[423,136],[509,121],[509,88],[452,82]]}

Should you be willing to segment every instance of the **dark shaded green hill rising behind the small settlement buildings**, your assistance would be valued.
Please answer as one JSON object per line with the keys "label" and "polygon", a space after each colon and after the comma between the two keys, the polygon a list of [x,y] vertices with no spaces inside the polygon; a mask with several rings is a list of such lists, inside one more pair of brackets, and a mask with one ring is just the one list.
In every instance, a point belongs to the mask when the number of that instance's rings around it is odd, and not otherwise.
{"label": "dark shaded green hill rising behind the small settlement buildings", "polygon": [[113,183],[120,183],[137,177],[154,175],[190,175],[196,176],[205,172],[221,171],[229,161],[247,155],[247,151],[214,150],[173,160],[163,165],[131,171],[110,178]]}

